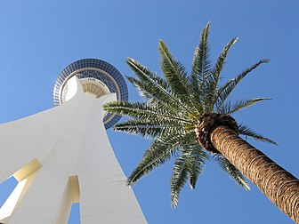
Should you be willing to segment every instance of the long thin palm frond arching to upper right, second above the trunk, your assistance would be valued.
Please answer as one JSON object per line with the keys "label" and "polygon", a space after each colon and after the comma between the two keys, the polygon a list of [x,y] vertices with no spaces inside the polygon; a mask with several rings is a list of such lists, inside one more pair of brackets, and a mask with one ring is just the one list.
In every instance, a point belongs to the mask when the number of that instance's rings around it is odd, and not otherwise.
{"label": "long thin palm frond arching to upper right, second above the trunk", "polygon": [[227,100],[227,98],[230,95],[230,92],[233,91],[233,89],[237,86],[237,84],[244,78],[246,77],[246,75],[248,75],[252,70],[254,70],[255,68],[257,68],[258,66],[260,66],[263,63],[268,63],[270,60],[267,59],[263,59],[263,60],[259,60],[258,62],[256,62],[253,66],[246,68],[243,72],[241,72],[238,76],[236,76],[235,78],[231,79],[229,82],[227,82],[226,84],[223,84],[222,87],[219,89],[218,91],[218,97],[217,97],[217,103],[216,103],[216,111],[219,111],[223,104],[224,101]]}

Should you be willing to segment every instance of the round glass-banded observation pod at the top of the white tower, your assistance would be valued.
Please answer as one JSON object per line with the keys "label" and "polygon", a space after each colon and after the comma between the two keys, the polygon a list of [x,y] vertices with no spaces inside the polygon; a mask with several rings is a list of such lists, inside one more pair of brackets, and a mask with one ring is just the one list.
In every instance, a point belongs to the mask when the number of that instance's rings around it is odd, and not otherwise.
{"label": "round glass-banded observation pod at the top of the white tower", "polygon": [[[117,100],[128,100],[125,79],[117,68],[104,60],[84,59],[74,61],[61,71],[53,90],[55,106],[59,106],[75,96],[77,85],[71,82],[73,76],[77,76],[84,92],[91,93],[96,98],[115,92]],[[105,128],[109,129],[120,118],[119,115],[106,114],[103,117]]]}

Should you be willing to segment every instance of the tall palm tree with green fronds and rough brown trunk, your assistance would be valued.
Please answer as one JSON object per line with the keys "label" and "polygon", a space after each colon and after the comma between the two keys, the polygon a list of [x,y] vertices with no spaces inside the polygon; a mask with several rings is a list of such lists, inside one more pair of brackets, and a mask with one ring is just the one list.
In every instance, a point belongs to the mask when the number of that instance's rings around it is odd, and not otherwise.
{"label": "tall palm tree with green fronds and rough brown trunk", "polygon": [[222,68],[233,38],[214,63],[209,60],[209,23],[203,28],[193,57],[190,75],[175,60],[166,44],[159,41],[158,76],[133,59],[126,62],[137,77],[127,76],[138,90],[141,102],[111,102],[104,108],[131,119],[114,126],[115,131],[140,134],[153,140],[127,180],[133,185],[161,164],[174,157],[171,177],[171,204],[176,206],[187,181],[195,188],[206,159],[214,158],[236,182],[249,189],[248,180],[260,188],[282,212],[299,222],[299,181],[261,151],[238,137],[239,134],[276,144],[273,140],[237,124],[230,116],[269,98],[231,102],[230,93],[251,71],[269,60],[260,60],[229,82],[220,85]]}

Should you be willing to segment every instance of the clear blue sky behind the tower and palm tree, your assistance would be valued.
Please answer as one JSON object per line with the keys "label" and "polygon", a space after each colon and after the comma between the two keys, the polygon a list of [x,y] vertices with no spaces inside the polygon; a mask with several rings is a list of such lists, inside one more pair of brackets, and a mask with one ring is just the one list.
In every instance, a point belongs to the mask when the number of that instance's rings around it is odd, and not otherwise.
{"label": "clear blue sky behind the tower and palm tree", "polygon": [[[276,140],[279,147],[249,140],[256,148],[299,177],[298,15],[296,0],[152,0],[152,1],[1,1],[0,122],[9,122],[53,107],[53,84],[74,60],[97,58],[133,75],[125,65],[132,57],[158,68],[158,39],[190,70],[201,29],[211,21],[211,57],[238,36],[228,56],[223,80],[257,60],[268,58],[248,76],[233,99],[271,97],[235,118]],[[130,100],[139,100],[128,84]],[[108,131],[126,175],[140,161],[150,140]],[[210,161],[197,188],[182,190],[170,206],[172,164],[137,183],[133,190],[149,223],[293,223],[251,184],[238,187]],[[0,199],[4,193],[0,192]],[[69,222],[78,223],[77,220]]]}

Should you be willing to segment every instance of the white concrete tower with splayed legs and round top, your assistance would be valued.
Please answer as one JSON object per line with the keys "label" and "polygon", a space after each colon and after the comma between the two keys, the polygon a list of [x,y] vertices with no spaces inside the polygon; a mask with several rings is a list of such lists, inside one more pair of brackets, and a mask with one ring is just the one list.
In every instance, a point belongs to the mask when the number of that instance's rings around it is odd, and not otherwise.
{"label": "white concrete tower with splayed legs and round top", "polygon": [[123,76],[77,60],[56,81],[57,107],[0,125],[0,181],[19,181],[0,223],[65,224],[77,202],[83,224],[146,223],[105,131],[120,118],[102,110],[110,100],[127,100]]}

